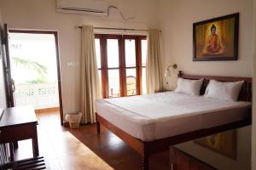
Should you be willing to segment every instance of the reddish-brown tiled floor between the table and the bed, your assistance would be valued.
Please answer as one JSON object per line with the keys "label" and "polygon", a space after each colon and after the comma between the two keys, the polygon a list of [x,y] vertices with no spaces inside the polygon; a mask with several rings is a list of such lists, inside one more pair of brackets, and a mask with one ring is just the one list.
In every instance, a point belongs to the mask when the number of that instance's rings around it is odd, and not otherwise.
{"label": "reddish-brown tiled floor between the table and the bed", "polygon": [[[57,112],[37,115],[39,153],[47,158],[51,169],[140,169],[141,159],[137,152],[106,128],[102,127],[101,135],[97,135],[95,125],[86,125],[79,129],[61,127]],[[15,158],[32,157],[31,145],[30,140],[19,142]],[[151,156],[150,170],[169,169],[168,160],[168,151]]]}

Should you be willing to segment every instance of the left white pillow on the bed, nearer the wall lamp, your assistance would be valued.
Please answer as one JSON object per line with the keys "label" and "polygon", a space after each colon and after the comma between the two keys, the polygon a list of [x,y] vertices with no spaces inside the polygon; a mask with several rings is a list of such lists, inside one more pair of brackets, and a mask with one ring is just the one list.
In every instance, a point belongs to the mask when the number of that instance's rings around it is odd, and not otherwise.
{"label": "left white pillow on the bed, nearer the wall lamp", "polygon": [[178,78],[175,92],[182,94],[200,95],[201,84],[203,80],[203,78],[200,80]]}

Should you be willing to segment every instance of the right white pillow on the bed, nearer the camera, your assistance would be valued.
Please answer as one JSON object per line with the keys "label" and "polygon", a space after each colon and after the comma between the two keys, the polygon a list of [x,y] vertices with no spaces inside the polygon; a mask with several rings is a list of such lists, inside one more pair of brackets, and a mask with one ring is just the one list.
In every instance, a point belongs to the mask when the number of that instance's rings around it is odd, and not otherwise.
{"label": "right white pillow on the bed, nearer the camera", "polygon": [[210,80],[204,96],[207,98],[236,101],[243,82],[218,82]]}

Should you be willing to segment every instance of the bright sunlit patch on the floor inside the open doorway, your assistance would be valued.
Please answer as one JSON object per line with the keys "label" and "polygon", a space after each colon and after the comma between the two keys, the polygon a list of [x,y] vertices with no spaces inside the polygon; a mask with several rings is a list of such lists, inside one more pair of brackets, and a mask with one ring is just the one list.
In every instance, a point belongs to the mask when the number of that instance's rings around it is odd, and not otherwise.
{"label": "bright sunlit patch on the floor inside the open doorway", "polygon": [[[38,115],[38,144],[39,154],[44,156],[50,169],[99,169],[113,170],[102,158],[76,139],[72,133],[61,127],[60,119],[53,113]],[[15,151],[15,159],[32,157],[32,142],[19,142]]]}

